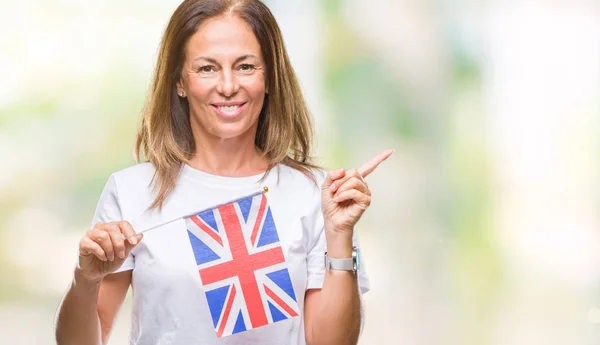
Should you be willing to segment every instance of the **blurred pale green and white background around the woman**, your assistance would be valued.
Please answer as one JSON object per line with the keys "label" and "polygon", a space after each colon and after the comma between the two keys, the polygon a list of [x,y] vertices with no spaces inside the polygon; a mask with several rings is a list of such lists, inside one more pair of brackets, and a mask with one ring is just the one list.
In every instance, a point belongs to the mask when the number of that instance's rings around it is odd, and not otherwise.
{"label": "blurred pale green and white background around the woman", "polygon": [[[600,3],[271,0],[317,162],[369,176],[371,344],[600,342]],[[179,1],[0,2],[0,344],[53,344]],[[127,343],[127,301],[111,344]]]}

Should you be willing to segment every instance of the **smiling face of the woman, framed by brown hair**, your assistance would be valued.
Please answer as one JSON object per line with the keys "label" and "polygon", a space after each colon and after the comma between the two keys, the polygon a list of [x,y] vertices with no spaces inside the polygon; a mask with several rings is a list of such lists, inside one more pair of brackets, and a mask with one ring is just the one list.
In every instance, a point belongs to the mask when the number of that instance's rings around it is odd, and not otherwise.
{"label": "smiling face of the woman, framed by brown hair", "polygon": [[194,136],[254,143],[266,89],[260,45],[250,26],[235,15],[211,18],[185,53],[177,91],[188,99]]}

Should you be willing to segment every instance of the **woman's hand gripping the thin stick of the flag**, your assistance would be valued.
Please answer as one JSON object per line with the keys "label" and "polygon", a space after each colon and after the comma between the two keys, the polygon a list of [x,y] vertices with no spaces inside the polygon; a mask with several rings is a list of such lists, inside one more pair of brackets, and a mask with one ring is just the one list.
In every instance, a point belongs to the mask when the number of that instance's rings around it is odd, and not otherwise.
{"label": "woman's hand gripping the thin stick of the flag", "polygon": [[82,276],[100,282],[115,272],[141,240],[127,221],[98,223],[79,241],[79,265]]}

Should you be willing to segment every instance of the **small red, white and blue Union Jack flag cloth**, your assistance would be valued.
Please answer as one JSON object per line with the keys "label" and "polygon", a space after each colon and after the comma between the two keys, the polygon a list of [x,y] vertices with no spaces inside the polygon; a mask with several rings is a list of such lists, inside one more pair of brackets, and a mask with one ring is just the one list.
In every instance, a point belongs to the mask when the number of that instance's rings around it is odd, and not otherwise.
{"label": "small red, white and blue Union Jack flag cloth", "polygon": [[298,316],[265,194],[185,218],[217,337]]}

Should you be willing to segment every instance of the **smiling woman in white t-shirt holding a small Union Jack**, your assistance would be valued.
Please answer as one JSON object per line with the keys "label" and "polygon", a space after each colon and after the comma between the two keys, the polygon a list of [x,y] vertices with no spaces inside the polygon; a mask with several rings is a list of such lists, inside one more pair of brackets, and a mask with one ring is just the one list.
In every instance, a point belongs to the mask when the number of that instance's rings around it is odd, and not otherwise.
{"label": "smiling woman in white t-shirt holding a small Union Jack", "polygon": [[362,178],[391,151],[325,174],[309,162],[310,138],[267,7],[184,1],[137,137],[148,162],[106,184],[58,344],[105,344],[130,285],[131,344],[355,344],[357,286],[368,290],[353,259],[370,203]]}

